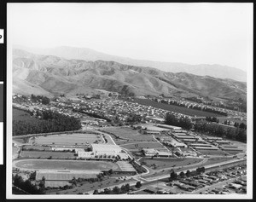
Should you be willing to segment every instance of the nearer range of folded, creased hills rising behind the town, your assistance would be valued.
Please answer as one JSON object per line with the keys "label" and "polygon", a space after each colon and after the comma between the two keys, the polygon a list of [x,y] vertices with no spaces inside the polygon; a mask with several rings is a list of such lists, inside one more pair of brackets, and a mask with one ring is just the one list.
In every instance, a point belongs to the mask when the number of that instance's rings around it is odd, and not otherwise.
{"label": "nearer range of folded, creased hills rising behind the town", "polygon": [[21,49],[14,49],[13,55],[14,93],[76,95],[105,89],[124,95],[246,98],[246,84],[231,79],[162,72],[115,61],[67,60],[53,55],[33,55]]}

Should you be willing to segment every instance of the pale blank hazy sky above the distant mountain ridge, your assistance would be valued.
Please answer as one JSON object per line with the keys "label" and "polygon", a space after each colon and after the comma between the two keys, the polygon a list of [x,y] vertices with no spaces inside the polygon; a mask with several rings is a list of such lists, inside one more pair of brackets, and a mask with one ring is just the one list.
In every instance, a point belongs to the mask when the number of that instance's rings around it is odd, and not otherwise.
{"label": "pale blank hazy sky above the distant mountain ridge", "polygon": [[253,3],[9,3],[8,31],[27,47],[245,71],[253,60]]}

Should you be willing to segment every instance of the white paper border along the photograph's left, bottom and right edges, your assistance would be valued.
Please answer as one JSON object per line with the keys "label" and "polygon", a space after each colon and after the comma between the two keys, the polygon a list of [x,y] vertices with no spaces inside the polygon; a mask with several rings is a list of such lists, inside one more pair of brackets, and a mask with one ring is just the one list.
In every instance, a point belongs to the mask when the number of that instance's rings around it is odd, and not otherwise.
{"label": "white paper border along the photograph's left, bottom and right edges", "polygon": [[[247,69],[247,194],[227,195],[14,195],[12,194],[12,42],[9,8],[7,3],[7,156],[6,198],[7,199],[253,199],[253,57],[248,58]],[[17,3],[15,3],[17,4]],[[38,4],[38,3],[37,3]],[[53,3],[51,3],[53,4]],[[60,4],[60,3],[57,3]],[[99,4],[99,3],[98,3]],[[106,4],[106,3],[101,3]],[[109,3],[108,3],[109,4]],[[118,3],[113,3],[118,4]],[[180,3],[181,4],[181,3]],[[189,3],[187,3],[189,4]],[[253,5],[253,3],[252,3]],[[253,7],[252,7],[253,9]]]}

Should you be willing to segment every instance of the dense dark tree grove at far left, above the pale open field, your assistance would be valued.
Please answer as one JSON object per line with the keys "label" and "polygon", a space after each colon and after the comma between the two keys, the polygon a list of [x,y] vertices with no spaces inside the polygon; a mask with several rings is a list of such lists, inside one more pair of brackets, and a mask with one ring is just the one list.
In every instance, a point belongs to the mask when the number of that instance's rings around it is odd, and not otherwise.
{"label": "dense dark tree grove at far left, above the pale open field", "polygon": [[81,124],[78,118],[44,111],[42,113],[42,120],[38,120],[37,118],[14,120],[13,136],[79,130],[80,128]]}

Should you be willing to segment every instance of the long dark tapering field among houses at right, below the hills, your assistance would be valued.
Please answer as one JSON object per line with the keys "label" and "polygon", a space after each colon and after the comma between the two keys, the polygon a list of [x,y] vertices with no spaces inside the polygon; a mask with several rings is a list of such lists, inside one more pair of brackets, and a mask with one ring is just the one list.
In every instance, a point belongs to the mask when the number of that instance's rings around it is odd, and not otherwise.
{"label": "long dark tapering field among houses at right, below the hills", "polygon": [[[125,101],[125,100],[124,100]],[[218,113],[208,113],[208,112],[204,112],[201,110],[195,110],[195,109],[191,109],[191,108],[187,108],[187,107],[179,107],[179,106],[175,106],[175,105],[167,105],[164,103],[158,103],[156,101],[151,101],[148,99],[134,99],[134,101],[131,102],[135,102],[138,103],[140,105],[145,105],[145,106],[151,106],[151,107],[156,107],[156,108],[160,108],[160,109],[164,109],[164,110],[168,110],[174,113],[183,113],[189,116],[198,116],[198,117],[223,117],[222,115],[218,114]]]}

